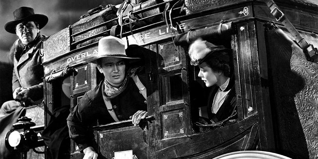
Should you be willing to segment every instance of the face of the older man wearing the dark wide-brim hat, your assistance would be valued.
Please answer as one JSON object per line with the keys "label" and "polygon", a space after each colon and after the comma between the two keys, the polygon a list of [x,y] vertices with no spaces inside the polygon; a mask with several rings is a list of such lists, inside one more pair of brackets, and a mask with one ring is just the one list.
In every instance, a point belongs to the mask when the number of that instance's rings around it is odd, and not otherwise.
{"label": "face of the older man wearing the dark wide-brim hat", "polygon": [[33,21],[21,22],[15,26],[15,33],[23,45],[27,45],[32,42],[38,32],[39,25],[35,25]]}

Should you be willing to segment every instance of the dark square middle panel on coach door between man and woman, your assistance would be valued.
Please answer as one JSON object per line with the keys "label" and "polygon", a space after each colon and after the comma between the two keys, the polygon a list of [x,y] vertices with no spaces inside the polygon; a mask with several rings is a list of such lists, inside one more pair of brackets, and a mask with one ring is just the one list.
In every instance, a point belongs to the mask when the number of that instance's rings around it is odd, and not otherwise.
{"label": "dark square middle panel on coach door between man and woman", "polygon": [[161,78],[163,103],[182,99],[181,74]]}

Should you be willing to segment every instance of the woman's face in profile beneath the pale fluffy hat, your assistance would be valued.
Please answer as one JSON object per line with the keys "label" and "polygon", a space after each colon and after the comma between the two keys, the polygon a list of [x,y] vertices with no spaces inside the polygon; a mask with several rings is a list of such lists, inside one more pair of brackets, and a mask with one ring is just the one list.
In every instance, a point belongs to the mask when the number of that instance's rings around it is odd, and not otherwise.
{"label": "woman's face in profile beneath the pale fluffy hat", "polygon": [[207,87],[218,84],[220,74],[213,71],[206,62],[199,65],[200,72],[198,76],[204,81]]}

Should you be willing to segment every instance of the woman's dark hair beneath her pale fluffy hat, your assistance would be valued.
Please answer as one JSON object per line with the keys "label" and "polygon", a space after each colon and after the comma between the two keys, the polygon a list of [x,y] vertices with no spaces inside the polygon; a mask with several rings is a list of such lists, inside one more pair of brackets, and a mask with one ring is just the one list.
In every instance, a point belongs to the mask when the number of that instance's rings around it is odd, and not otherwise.
{"label": "woman's dark hair beneath her pale fluffy hat", "polygon": [[[224,52],[224,51],[220,51],[220,52],[213,53],[213,54],[223,54],[225,56],[229,56],[229,53]],[[214,55],[210,55],[210,56],[208,55],[208,57],[203,62],[206,62],[212,70],[221,71],[221,72],[223,72],[224,76],[231,77],[232,65],[229,64],[229,62],[221,60],[220,58],[218,58]]]}

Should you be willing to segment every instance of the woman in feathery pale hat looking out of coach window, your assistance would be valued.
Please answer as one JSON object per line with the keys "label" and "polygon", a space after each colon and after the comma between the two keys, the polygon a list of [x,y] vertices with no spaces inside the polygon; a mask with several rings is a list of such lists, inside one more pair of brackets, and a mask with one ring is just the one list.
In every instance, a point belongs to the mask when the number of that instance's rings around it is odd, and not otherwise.
{"label": "woman in feathery pale hat looking out of coach window", "polygon": [[209,88],[209,124],[220,122],[235,114],[235,80],[230,53],[230,49],[202,39],[197,39],[189,46],[190,63],[199,66],[198,77]]}

